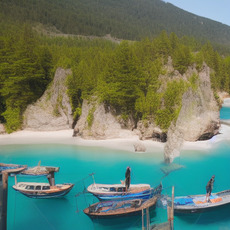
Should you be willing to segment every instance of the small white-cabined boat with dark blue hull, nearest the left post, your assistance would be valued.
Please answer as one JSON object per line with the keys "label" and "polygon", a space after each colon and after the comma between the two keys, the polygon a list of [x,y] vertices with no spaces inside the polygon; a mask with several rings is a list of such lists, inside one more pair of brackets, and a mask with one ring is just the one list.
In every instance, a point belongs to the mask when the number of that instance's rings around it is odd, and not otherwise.
{"label": "small white-cabined boat with dark blue hull, nearest the left post", "polygon": [[74,184],[57,184],[50,186],[48,183],[19,182],[13,188],[30,198],[56,198],[66,195]]}

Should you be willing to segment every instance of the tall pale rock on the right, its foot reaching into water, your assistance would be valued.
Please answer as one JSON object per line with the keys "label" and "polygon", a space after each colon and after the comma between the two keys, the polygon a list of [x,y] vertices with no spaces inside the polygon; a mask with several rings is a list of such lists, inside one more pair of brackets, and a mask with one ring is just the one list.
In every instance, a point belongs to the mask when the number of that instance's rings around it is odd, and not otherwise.
{"label": "tall pale rock on the right, its foot reaching into water", "polygon": [[207,140],[219,132],[219,107],[211,89],[210,69],[204,64],[199,73],[195,69],[192,72],[199,76],[198,87],[189,88],[184,93],[178,119],[168,130],[165,145],[167,162],[179,156],[184,140]]}

